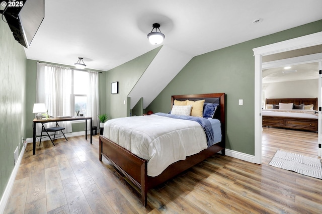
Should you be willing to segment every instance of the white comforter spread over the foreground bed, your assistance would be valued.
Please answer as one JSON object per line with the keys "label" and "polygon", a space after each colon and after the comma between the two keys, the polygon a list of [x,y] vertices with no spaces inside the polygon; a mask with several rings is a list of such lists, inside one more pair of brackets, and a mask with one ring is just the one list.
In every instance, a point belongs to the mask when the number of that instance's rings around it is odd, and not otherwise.
{"label": "white comforter spread over the foreground bed", "polygon": [[104,137],[148,160],[149,176],[207,148],[199,123],[157,115],[109,120],[104,124]]}

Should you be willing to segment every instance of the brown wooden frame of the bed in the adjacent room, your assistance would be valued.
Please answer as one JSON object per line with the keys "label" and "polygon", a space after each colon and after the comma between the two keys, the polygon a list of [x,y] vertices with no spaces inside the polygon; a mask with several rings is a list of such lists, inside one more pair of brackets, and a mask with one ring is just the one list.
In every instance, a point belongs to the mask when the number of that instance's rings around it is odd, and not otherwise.
{"label": "brown wooden frame of the bed in the adjacent room", "polygon": [[[313,110],[317,111],[317,98],[270,98],[266,99],[266,104],[294,103],[309,105],[313,104]],[[291,117],[272,117],[263,116],[262,125],[267,127],[279,127],[286,129],[297,129],[317,132],[317,119],[291,118]]]}

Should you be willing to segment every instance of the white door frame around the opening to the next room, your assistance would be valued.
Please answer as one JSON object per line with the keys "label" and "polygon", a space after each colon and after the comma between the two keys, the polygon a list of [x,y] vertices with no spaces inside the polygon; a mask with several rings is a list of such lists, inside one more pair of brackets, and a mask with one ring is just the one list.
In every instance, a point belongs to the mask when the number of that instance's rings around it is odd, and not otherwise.
{"label": "white door frame around the opening to the next room", "polygon": [[322,44],[322,32],[254,48],[255,56],[255,159],[262,163],[262,69],[263,56]]}

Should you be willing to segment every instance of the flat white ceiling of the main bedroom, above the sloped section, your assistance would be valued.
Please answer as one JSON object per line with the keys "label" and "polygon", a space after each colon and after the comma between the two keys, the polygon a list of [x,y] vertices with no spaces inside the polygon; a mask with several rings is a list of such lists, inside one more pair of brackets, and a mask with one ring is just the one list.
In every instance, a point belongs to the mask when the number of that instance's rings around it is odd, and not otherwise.
{"label": "flat white ceiling of the main bedroom, above the sloped section", "polygon": [[[28,59],[107,71],[164,45],[196,56],[322,19],[321,0],[46,0],[45,19]],[[261,23],[253,24],[256,19]]]}

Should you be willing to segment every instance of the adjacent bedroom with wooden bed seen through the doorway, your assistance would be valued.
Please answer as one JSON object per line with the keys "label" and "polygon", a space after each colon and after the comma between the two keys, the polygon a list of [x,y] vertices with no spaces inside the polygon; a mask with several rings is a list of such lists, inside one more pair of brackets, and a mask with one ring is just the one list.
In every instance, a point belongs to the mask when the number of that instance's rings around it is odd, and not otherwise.
{"label": "adjacent bedroom with wooden bed seen through the doorway", "polygon": [[318,76],[318,62],[263,69],[263,163],[277,149],[316,157]]}

